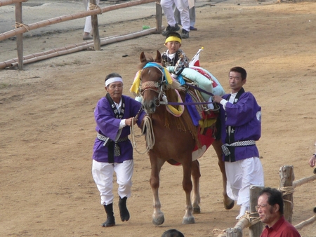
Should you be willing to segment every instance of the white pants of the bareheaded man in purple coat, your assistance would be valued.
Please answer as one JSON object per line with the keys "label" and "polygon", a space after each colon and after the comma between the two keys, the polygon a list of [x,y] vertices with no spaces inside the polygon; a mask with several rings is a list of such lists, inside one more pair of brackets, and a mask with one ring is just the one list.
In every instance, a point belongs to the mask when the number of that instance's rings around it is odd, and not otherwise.
{"label": "white pants of the bareheaded man in purple coat", "polygon": [[225,162],[227,194],[237,205],[250,205],[250,186],[264,187],[263,168],[258,157],[241,161]]}

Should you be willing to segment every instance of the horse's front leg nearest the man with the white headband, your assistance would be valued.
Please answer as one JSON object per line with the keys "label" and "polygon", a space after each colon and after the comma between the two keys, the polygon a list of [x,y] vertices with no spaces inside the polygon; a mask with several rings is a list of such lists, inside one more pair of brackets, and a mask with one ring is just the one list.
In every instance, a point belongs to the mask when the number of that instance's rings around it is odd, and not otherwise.
{"label": "horse's front leg nearest the man with the white headband", "polygon": [[150,152],[150,163],[152,165],[152,172],[150,175],[150,187],[152,187],[152,194],[154,195],[154,213],[152,214],[152,224],[159,226],[164,223],[164,213],[160,210],[162,205],[159,200],[159,173],[164,165],[164,161],[157,158]]}

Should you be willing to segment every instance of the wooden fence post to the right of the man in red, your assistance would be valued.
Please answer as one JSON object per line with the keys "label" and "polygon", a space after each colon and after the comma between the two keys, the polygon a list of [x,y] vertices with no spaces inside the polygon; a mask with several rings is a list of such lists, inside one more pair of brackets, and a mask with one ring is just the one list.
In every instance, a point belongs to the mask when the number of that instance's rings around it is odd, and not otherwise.
{"label": "wooden fence post to the right of the man in red", "polygon": [[294,181],[294,170],[292,165],[285,165],[279,168],[280,177],[280,191],[283,193],[284,200],[284,218],[289,223],[292,223],[293,215],[293,181]]}

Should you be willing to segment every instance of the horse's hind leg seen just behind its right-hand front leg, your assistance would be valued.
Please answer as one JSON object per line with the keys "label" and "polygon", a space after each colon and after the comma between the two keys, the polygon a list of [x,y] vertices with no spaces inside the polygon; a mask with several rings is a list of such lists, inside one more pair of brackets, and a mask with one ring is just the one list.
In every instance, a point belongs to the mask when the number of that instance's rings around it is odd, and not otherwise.
{"label": "horse's hind leg seen just behind its right-hand front leg", "polygon": [[193,180],[193,194],[192,194],[192,205],[193,214],[201,213],[201,208],[199,208],[199,203],[201,197],[199,196],[199,178],[201,177],[201,172],[199,171],[199,161],[192,162],[192,180]]}

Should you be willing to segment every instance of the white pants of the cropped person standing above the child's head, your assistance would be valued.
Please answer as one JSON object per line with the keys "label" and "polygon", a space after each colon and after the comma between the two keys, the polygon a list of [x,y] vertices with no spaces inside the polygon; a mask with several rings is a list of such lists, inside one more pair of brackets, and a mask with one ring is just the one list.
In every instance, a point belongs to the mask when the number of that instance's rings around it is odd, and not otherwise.
{"label": "white pants of the cropped person standing above the child's head", "polygon": [[166,15],[166,20],[168,25],[171,27],[176,25],[176,20],[173,15],[173,4],[176,5],[178,11],[180,12],[180,18],[182,23],[182,28],[187,32],[190,32],[190,14],[189,14],[189,3],[187,0],[161,0],[160,5],[162,10],[164,10],[164,15]]}

